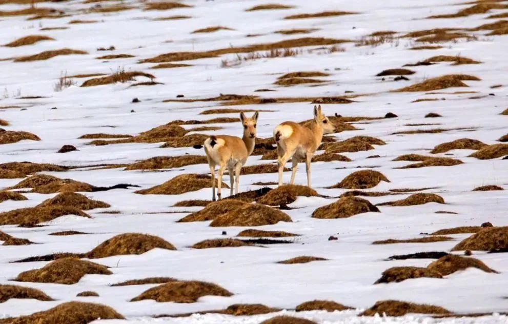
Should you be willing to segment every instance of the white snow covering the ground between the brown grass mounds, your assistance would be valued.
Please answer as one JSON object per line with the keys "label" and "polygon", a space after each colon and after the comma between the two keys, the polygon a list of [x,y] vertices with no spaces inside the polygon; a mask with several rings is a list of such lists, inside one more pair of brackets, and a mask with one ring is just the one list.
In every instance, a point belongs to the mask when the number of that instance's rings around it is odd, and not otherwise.
{"label": "white snow covering the ground between the brown grass mounds", "polygon": [[[116,1],[100,3],[103,6]],[[186,153],[204,154],[194,148],[160,148],[155,144],[115,144],[107,146],[86,145],[89,139],[77,139],[89,133],[115,133],[137,135],[172,120],[237,117],[234,114],[199,115],[201,111],[215,108],[268,109],[260,112],[258,137],[272,136],[273,128],[285,120],[301,121],[312,118],[310,102],[265,105],[216,107],[219,102],[163,102],[183,94],[185,98],[206,98],[231,93],[259,95],[261,97],[320,97],[359,94],[351,104],[322,105],[327,115],[382,117],[388,112],[397,118],[367,120],[353,124],[356,131],[334,134],[338,140],[357,135],[367,135],[384,140],[387,145],[375,146],[375,150],[343,153],[350,162],[316,162],[312,167],[314,189],[330,197],[338,197],[347,190],[326,189],[338,183],[354,171],[373,169],[383,173],[390,183],[381,181],[367,191],[388,191],[401,188],[433,188],[426,193],[442,196],[445,205],[430,203],[408,207],[379,207],[381,213],[364,213],[342,219],[311,218],[312,212],[330,204],[337,198],[298,197],[284,210],[293,222],[279,222],[259,229],[297,233],[293,244],[263,247],[235,247],[192,249],[190,246],[204,239],[234,237],[247,228],[209,227],[209,222],[177,223],[176,220],[200,207],[172,207],[175,202],[187,199],[210,199],[211,189],[206,188],[181,195],[140,195],[139,188],[116,189],[85,193],[88,197],[106,201],[107,210],[118,214],[100,213],[106,209],[88,211],[92,218],[63,216],[45,223],[44,227],[24,228],[15,225],[0,226],[0,230],[14,237],[27,238],[36,244],[27,246],[0,246],[0,284],[9,283],[33,287],[44,291],[55,301],[34,299],[10,299],[0,303],[0,318],[28,315],[50,309],[70,300],[103,303],[123,314],[126,320],[101,320],[104,323],[258,323],[278,313],[255,316],[227,316],[219,314],[193,315],[190,318],[152,318],[159,314],[192,313],[223,309],[234,303],[262,303],[287,309],[291,314],[318,323],[472,323],[508,322],[504,315],[477,318],[433,319],[424,315],[403,317],[359,317],[362,310],[376,301],[396,299],[417,303],[429,303],[456,313],[492,313],[507,310],[508,260],[503,253],[474,251],[473,256],[499,274],[485,273],[478,269],[460,271],[443,279],[417,278],[397,283],[373,285],[381,273],[396,266],[426,267],[433,259],[385,260],[396,254],[422,251],[450,251],[460,240],[471,234],[452,235],[454,240],[432,243],[407,243],[372,245],[375,240],[388,238],[415,238],[420,233],[430,233],[443,228],[479,226],[490,221],[494,226],[508,225],[508,161],[501,158],[480,160],[469,157],[473,150],[453,150],[442,157],[453,157],[463,164],[452,167],[425,167],[396,169],[411,162],[392,161],[402,154],[430,155],[436,145],[458,138],[473,138],[485,144],[498,144],[498,138],[508,133],[508,116],[500,113],[508,108],[508,36],[487,36],[487,31],[468,31],[475,39],[457,39],[439,44],[421,44],[415,38],[399,38],[405,33],[433,28],[471,29],[499,19],[487,18],[507,10],[490,10],[457,18],[427,19],[436,14],[454,13],[471,6],[462,1],[314,1],[284,0],[279,3],[294,6],[284,10],[246,12],[260,0],[187,0],[191,8],[165,11],[144,11],[143,4],[125,0],[124,5],[134,9],[112,13],[88,13],[84,9],[94,6],[78,0],[61,3],[39,3],[37,7],[63,10],[72,16],[27,20],[26,15],[0,16],[0,44],[7,44],[19,37],[44,34],[55,40],[34,45],[0,48],[0,59],[36,54],[42,51],[71,48],[89,54],[57,56],[48,60],[13,62],[0,60],[0,118],[9,122],[5,130],[28,131],[40,137],[40,141],[23,140],[0,145],[0,163],[31,161],[65,166],[90,166],[97,164],[130,164],[153,156],[179,156]],[[507,2],[501,2],[505,4]],[[26,8],[26,5],[3,4],[0,11]],[[315,13],[329,10],[356,12],[356,14],[308,19],[283,19],[297,13]],[[171,15],[188,15],[191,18],[155,21],[154,18]],[[90,24],[68,24],[71,20],[96,20]],[[192,33],[209,26],[225,26],[233,30],[213,33]],[[48,27],[69,27],[63,30],[40,31]],[[283,35],[274,33],[285,29],[316,29],[309,34]],[[356,46],[355,41],[377,31],[395,31],[394,39],[376,46]],[[248,34],[261,34],[246,37]],[[169,52],[193,52],[240,47],[251,44],[274,43],[299,37],[330,37],[350,39],[353,42],[338,44],[344,51],[329,53],[321,46],[303,48],[296,56],[259,58],[246,60],[239,65],[222,67],[222,60],[234,61],[236,54],[184,61],[189,67],[149,69],[153,63],[138,63],[140,59]],[[420,45],[440,45],[440,49],[410,50]],[[99,47],[114,46],[111,52],[97,52]],[[329,48],[330,46],[326,46]],[[107,54],[130,54],[135,57],[111,60],[96,59]],[[243,54],[240,54],[243,55]],[[481,64],[452,65],[441,62],[430,66],[409,67],[416,73],[408,75],[409,81],[395,82],[393,77],[375,75],[382,70],[400,68],[435,55],[460,55],[478,60]],[[181,63],[181,62],[173,62]],[[156,76],[162,83],[153,86],[130,87],[118,83],[96,87],[79,87],[84,78],[74,79],[63,91],[55,91],[54,85],[62,73],[67,75],[106,73],[118,67],[126,71],[144,71]],[[295,71],[320,71],[329,76],[319,79],[327,83],[319,86],[276,86],[273,83],[283,73]],[[425,92],[391,92],[425,79],[445,74],[469,74],[480,81],[465,81],[468,88],[448,88]],[[138,81],[144,81],[139,77]],[[494,85],[501,87],[491,88]],[[273,89],[273,92],[255,92],[257,89]],[[346,93],[353,91],[353,93]],[[476,93],[454,93],[474,91]],[[428,92],[441,92],[427,94]],[[445,92],[445,93],[443,93]],[[43,98],[21,98],[43,96]],[[472,99],[471,97],[479,98]],[[131,103],[133,98],[140,103]],[[445,100],[413,103],[421,98],[445,98]],[[17,106],[18,108],[6,108]],[[57,109],[51,109],[56,107]],[[26,109],[24,109],[26,108]],[[133,110],[133,112],[131,112]],[[435,112],[440,118],[424,118]],[[250,115],[251,113],[247,113]],[[407,126],[408,124],[436,124]],[[207,125],[210,126],[210,125]],[[239,123],[223,123],[220,131],[199,132],[206,134],[240,135]],[[189,129],[194,126],[184,126]],[[403,134],[394,132],[415,129],[444,128],[449,131],[431,134]],[[58,154],[63,145],[74,145],[79,151]],[[318,152],[320,153],[320,152]],[[379,155],[378,158],[369,158]],[[247,165],[271,163],[251,156]],[[289,166],[290,164],[288,164]],[[306,173],[300,165],[297,184],[306,184]],[[112,186],[119,183],[150,188],[183,173],[209,172],[205,164],[157,172],[124,171],[123,168],[96,170],[73,169],[67,172],[45,172],[60,178],[84,181],[95,186]],[[285,173],[289,181],[290,172]],[[257,181],[276,181],[275,173],[244,175],[240,178],[241,191],[259,189]],[[17,184],[22,179],[0,179],[0,187]],[[227,177],[225,182],[228,183]],[[473,192],[478,186],[497,185],[504,191]],[[223,191],[227,196],[229,190]],[[56,194],[26,193],[28,200],[6,200],[0,203],[0,211],[33,207]],[[380,197],[363,197],[373,204],[402,199],[408,194]],[[435,213],[451,211],[457,214]],[[75,230],[88,235],[50,236],[57,231]],[[121,233],[140,232],[157,235],[171,242],[177,250],[153,249],[142,255],[118,255],[94,259],[110,267],[112,275],[86,275],[74,285],[12,281],[19,273],[43,267],[48,262],[10,263],[35,255],[56,252],[87,252],[100,242]],[[329,241],[331,236],[338,240]],[[283,265],[277,261],[301,255],[327,258],[307,264]],[[110,287],[115,282],[148,277],[175,277],[185,280],[202,280],[216,283],[231,291],[231,297],[205,296],[195,303],[156,302],[129,300],[156,285]],[[99,297],[76,297],[82,291],[95,291]],[[313,299],[328,299],[354,307],[356,310],[327,313],[323,311],[292,311],[299,303]]]}

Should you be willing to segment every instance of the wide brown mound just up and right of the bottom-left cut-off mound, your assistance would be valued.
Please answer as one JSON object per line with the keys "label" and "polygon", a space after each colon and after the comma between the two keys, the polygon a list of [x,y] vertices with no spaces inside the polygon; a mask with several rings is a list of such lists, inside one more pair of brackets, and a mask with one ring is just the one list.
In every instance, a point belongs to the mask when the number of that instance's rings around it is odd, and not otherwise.
{"label": "wide brown mound just up and right of the bottom-left cut-off mound", "polygon": [[158,302],[196,302],[202,296],[225,296],[233,294],[215,283],[203,281],[173,281],[151,288],[131,301],[153,299]]}

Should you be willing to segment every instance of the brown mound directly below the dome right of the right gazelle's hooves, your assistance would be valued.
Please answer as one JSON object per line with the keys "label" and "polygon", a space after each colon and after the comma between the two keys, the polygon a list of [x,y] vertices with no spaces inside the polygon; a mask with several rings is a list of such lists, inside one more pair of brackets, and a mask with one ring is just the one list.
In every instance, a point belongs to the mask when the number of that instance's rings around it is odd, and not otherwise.
{"label": "brown mound directly below the dome right of the right gazelle's hooves", "polygon": [[359,197],[342,197],[330,205],[319,207],[312,213],[313,218],[346,218],[361,213],[377,212],[379,209],[369,200]]}

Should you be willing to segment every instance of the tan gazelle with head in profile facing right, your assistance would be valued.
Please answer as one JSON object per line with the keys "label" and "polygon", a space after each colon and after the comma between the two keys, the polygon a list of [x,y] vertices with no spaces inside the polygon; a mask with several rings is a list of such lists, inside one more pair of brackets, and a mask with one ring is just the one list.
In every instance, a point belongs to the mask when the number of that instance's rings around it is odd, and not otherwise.
{"label": "tan gazelle with head in profile facing right", "polygon": [[277,143],[277,163],[279,167],[279,186],[282,186],[282,171],[286,162],[292,158],[291,184],[295,183],[298,162],[305,161],[307,186],[311,188],[311,160],[321,144],[323,134],[335,133],[335,126],[321,112],[321,105],[314,106],[314,120],[310,128],[294,122],[284,122],[273,130]]}

